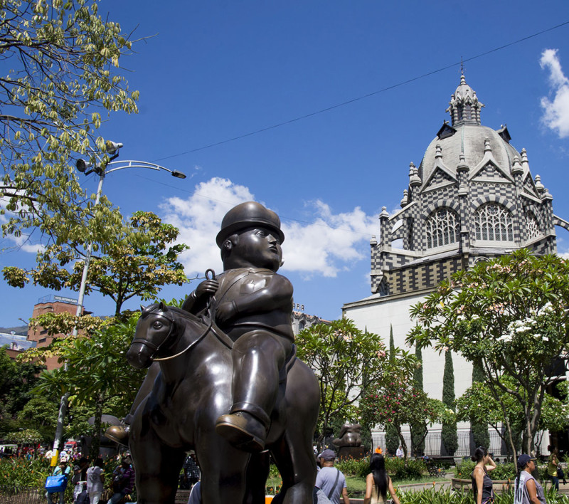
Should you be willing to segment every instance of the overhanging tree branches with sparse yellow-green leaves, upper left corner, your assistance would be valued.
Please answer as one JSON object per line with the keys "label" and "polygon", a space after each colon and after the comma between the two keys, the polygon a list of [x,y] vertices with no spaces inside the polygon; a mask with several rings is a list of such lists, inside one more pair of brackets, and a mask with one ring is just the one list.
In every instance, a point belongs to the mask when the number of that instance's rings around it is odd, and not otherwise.
{"label": "overhanging tree branches with sparse yellow-green leaves, upper left corner", "polygon": [[[94,216],[73,164],[74,153],[105,152],[96,130],[110,112],[137,112],[138,92],[115,73],[132,41],[97,14],[97,0],[5,0],[0,6],[0,197],[4,235],[39,228],[51,243]],[[108,157],[105,155],[105,160]],[[117,211],[97,209],[100,226]],[[103,219],[104,217],[104,219]],[[63,236],[53,233],[58,230]],[[86,231],[84,229],[84,231]]]}

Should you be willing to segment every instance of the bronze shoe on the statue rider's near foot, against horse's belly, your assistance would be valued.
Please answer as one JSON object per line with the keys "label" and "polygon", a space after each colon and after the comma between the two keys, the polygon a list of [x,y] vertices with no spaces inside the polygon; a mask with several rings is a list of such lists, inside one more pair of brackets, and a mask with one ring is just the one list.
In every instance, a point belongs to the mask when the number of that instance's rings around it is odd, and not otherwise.
{"label": "bronze shoe on the statue rider's near foot, against horse's belly", "polygon": [[256,453],[265,449],[265,426],[245,411],[221,415],[216,422],[216,432],[240,450]]}

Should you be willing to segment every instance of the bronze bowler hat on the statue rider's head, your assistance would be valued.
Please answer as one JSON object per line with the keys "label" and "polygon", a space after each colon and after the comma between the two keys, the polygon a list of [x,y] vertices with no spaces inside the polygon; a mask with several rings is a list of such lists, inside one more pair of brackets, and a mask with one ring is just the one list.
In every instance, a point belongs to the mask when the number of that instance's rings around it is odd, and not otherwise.
{"label": "bronze bowler hat on the statue rider's head", "polygon": [[247,201],[230,209],[221,221],[221,231],[216,236],[218,247],[221,248],[223,241],[236,231],[250,228],[251,226],[262,226],[275,231],[280,241],[285,240],[285,234],[280,229],[280,219],[274,211],[266,209],[257,201]]}

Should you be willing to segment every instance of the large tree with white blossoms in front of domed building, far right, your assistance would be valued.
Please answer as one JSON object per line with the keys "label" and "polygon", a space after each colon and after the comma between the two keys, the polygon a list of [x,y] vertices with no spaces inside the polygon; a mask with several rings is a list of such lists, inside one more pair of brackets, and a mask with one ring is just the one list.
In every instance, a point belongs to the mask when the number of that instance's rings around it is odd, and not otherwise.
{"label": "large tree with white blossoms in front of domed building, far right", "polygon": [[522,249],[455,273],[413,306],[422,325],[408,342],[482,362],[493,397],[509,394],[522,405],[522,449],[531,453],[546,388],[555,381],[551,362],[569,356],[568,302],[568,263]]}

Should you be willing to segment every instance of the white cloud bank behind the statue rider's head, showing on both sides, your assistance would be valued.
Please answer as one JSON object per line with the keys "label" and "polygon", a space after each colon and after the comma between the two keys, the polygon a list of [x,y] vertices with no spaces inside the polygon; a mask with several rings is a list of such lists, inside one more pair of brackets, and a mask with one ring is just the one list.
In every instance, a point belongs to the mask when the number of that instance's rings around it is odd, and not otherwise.
{"label": "white cloud bank behind the statue rider's head, showing on both sides", "polygon": [[[198,184],[188,199],[171,198],[161,206],[164,220],[178,227],[179,240],[191,246],[181,256],[188,276],[203,275],[207,268],[222,271],[215,239],[221,219],[236,204],[252,200],[255,196],[247,187],[213,178]],[[285,233],[283,271],[333,277],[367,258],[369,239],[374,230],[378,231],[376,217],[367,216],[360,208],[334,214],[323,201],[312,201],[308,206],[314,211],[310,224],[281,215]]]}

